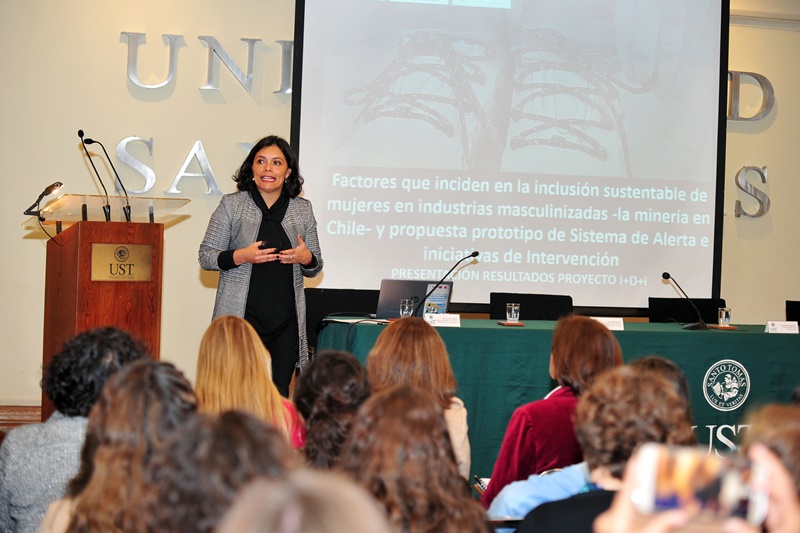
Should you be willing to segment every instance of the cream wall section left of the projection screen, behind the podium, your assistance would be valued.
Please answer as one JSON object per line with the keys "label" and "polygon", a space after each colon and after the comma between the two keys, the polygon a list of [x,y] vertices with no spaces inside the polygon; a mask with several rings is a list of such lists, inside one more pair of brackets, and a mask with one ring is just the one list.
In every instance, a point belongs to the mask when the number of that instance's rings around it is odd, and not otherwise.
{"label": "cream wall section left of the projection screen, behind the podium", "polygon": [[[167,73],[168,48],[162,34],[183,35],[177,75],[158,90],[127,80],[127,41],[120,32],[146,34],[139,76],[146,83]],[[216,37],[246,70],[241,38],[260,38],[248,93],[224,66],[220,91],[200,91],[206,83],[208,49],[197,39]],[[153,155],[135,153],[155,170],[147,196],[165,194],[195,141],[200,140],[223,192],[234,190],[230,176],[246,152],[239,142],[276,133],[288,137],[291,97],[280,87],[280,46],[294,36],[291,0],[46,0],[0,2],[0,404],[40,401],[45,238],[22,227],[22,211],[50,183],[62,193],[100,193],[82,154],[78,129],[112,152],[128,136],[153,137]],[[102,165],[98,170],[111,187]],[[143,179],[116,164],[130,188]],[[193,164],[190,171],[197,172]],[[309,177],[313,179],[313,177]],[[205,183],[185,178],[182,194],[191,203],[185,219],[165,231],[162,308],[163,360],[192,379],[200,338],[211,318],[216,276],[203,272],[197,249],[218,195],[206,196]],[[173,195],[174,196],[174,195]]]}

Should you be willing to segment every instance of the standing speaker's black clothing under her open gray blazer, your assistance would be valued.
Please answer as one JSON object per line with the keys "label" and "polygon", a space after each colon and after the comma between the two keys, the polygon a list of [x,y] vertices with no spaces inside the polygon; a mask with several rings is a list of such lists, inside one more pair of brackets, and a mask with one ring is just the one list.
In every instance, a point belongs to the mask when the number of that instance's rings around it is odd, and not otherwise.
{"label": "standing speaker's black clothing under her open gray blazer", "polygon": [[[271,208],[267,207],[258,189],[250,191],[256,206],[261,209],[259,241],[267,248],[288,250],[292,242],[286,236],[281,221],[289,207],[289,198],[281,195]],[[253,325],[264,342],[271,341],[292,321],[297,320],[294,304],[294,265],[269,261],[253,265],[244,318]]]}

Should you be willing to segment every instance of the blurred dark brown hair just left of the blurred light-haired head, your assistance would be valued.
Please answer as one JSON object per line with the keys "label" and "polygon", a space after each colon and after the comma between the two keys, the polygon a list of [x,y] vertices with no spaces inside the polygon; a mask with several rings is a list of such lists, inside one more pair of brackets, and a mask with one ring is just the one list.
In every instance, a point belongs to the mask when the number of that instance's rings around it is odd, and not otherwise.
{"label": "blurred dark brown hair just left of the blurred light-haired head", "polygon": [[274,427],[243,411],[198,414],[175,432],[147,470],[138,531],[211,532],[241,488],[285,479],[299,466]]}

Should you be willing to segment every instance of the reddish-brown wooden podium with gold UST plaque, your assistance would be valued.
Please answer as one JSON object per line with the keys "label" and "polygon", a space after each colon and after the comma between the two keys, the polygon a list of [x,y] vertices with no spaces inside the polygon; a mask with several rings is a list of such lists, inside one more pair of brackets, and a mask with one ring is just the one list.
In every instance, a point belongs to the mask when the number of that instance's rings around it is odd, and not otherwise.
{"label": "reddish-brown wooden podium with gold UST plaque", "polygon": [[[104,197],[100,198],[105,203]],[[53,214],[48,224],[64,220],[74,223],[47,242],[43,368],[67,339],[104,326],[115,326],[138,337],[158,358],[164,224],[70,220],[81,216],[75,215],[74,204],[86,200],[86,196],[67,195],[55,204],[72,206],[73,211],[67,207],[59,210],[58,205],[46,208]],[[188,202],[156,200],[172,208]],[[96,197],[94,201],[98,202]],[[83,208],[83,216],[96,208]],[[80,213],[81,207],[77,209]],[[47,214],[42,210],[42,216]],[[52,401],[42,392],[42,420],[54,410]]]}

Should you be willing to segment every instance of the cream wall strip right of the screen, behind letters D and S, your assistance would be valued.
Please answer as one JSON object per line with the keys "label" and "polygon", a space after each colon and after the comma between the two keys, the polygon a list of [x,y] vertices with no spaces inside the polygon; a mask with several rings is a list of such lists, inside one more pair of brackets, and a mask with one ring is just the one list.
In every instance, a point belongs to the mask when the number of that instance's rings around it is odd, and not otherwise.
{"label": "cream wall strip right of the screen, behind letters D and S", "polygon": [[[733,321],[746,324],[783,320],[785,300],[800,299],[797,277],[800,194],[797,143],[800,140],[800,4],[790,0],[731,2],[729,70],[756,72],[770,80],[776,105],[757,122],[728,121],[723,224],[722,297]],[[752,89],[752,87],[751,87]],[[743,91],[742,115],[758,111],[760,93]],[[767,184],[754,184],[772,202],[763,217],[734,217],[741,200],[753,212],[752,199],[736,188],[743,166],[766,166]]]}

